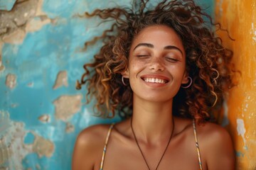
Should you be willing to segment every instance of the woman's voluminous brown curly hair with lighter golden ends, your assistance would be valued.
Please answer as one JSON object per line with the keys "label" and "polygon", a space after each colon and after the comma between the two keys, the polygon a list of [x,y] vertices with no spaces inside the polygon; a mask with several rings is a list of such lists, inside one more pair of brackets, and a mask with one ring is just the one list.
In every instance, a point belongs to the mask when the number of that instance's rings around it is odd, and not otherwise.
{"label": "woman's voluminous brown curly hair with lighter golden ends", "polygon": [[186,51],[186,72],[193,79],[190,88],[181,88],[174,97],[174,115],[204,122],[220,111],[225,92],[233,86],[233,52],[215,35],[216,30],[223,30],[220,24],[213,23],[193,0],[164,0],[154,8],[149,0],[134,0],[131,8],[96,9],[85,16],[113,22],[101,36],[85,42],[85,47],[99,40],[104,45],[93,62],[84,64],[85,73],[77,82],[77,89],[87,85],[87,102],[92,97],[97,100],[98,115],[110,118],[115,111],[123,118],[132,115],[132,89],[128,81],[128,86],[122,84],[121,73],[128,67],[134,36],[154,25],[169,26],[179,35]]}

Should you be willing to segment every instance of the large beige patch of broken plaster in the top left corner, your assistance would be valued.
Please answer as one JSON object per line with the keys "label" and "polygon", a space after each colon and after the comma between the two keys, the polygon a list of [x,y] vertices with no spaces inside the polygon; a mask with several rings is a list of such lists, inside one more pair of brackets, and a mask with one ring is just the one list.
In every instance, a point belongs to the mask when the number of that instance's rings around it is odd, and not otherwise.
{"label": "large beige patch of broken plaster in the top left corner", "polygon": [[40,30],[44,25],[55,22],[41,10],[43,0],[16,1],[11,11],[0,11],[0,40],[21,44],[27,32]]}

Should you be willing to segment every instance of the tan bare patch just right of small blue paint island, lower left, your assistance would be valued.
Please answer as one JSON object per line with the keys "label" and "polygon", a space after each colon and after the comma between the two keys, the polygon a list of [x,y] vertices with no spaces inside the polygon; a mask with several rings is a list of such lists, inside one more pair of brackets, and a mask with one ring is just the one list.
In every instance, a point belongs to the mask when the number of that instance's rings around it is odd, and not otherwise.
{"label": "tan bare patch just right of small blue paint island, lower left", "polygon": [[54,152],[54,144],[50,140],[35,135],[32,150],[38,154],[38,157],[52,157]]}

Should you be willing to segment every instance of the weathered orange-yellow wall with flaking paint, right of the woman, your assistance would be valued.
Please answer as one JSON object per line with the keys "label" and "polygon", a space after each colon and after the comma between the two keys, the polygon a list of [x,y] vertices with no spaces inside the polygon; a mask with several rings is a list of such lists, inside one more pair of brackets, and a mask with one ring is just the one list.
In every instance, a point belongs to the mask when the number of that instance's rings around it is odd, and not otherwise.
{"label": "weathered orange-yellow wall with flaking paint, right of the woman", "polygon": [[215,18],[230,31],[235,41],[220,33],[233,50],[240,70],[238,86],[228,99],[228,129],[235,144],[237,169],[256,169],[256,1],[218,0]]}

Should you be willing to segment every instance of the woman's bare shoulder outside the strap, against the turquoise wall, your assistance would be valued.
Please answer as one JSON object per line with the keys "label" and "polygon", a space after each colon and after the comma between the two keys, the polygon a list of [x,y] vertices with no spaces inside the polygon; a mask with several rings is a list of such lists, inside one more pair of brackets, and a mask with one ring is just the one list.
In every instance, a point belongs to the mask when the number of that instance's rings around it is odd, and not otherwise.
{"label": "woman's bare shoulder outside the strap, against the turquoise wall", "polygon": [[90,169],[100,160],[110,125],[92,125],[78,135],[73,151],[72,169]]}

